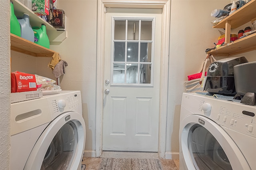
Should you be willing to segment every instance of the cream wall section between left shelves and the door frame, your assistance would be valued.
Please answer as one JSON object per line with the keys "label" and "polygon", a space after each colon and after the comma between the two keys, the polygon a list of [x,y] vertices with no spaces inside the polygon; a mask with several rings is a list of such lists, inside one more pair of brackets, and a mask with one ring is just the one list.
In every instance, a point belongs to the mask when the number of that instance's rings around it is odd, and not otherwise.
{"label": "cream wall section between left shelves and the door frame", "polygon": [[82,93],[83,117],[86,124],[85,150],[95,150],[96,124],[96,0],[61,0],[58,8],[66,12],[68,38],[60,45],[52,45],[60,57],[68,62],[60,83],[65,90]]}

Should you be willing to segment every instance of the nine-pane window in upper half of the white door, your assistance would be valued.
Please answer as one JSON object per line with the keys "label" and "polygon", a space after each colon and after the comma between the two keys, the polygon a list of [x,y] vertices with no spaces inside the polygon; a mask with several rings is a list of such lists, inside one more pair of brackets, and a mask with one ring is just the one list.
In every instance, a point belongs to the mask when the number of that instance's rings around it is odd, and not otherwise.
{"label": "nine-pane window in upper half of the white door", "polygon": [[152,85],[154,19],[114,18],[112,83]]}

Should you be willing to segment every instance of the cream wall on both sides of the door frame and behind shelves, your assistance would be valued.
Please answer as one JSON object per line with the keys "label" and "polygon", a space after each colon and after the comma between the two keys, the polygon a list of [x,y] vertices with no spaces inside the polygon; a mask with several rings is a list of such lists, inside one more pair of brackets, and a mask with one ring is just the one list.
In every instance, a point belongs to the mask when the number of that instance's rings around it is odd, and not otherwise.
{"label": "cream wall on both sides of the door frame and behind shelves", "polygon": [[[230,0],[171,1],[166,158],[178,158],[180,105],[182,93],[186,91],[184,81],[187,80],[187,75],[198,73],[206,57],[205,50],[214,47],[213,43],[220,36],[218,30],[224,32],[224,29],[212,28],[210,22],[215,18],[210,13],[229,3]],[[62,90],[82,92],[83,117],[86,123],[85,150],[87,156],[94,156],[95,138],[100,135],[95,130],[97,0],[58,0],[58,8],[63,9],[68,17],[68,38],[60,45],[51,45],[50,48],[60,52],[60,57],[68,62],[66,74],[61,77]],[[234,34],[238,32],[233,31]],[[251,51],[240,56],[254,61],[254,55],[255,51]],[[55,79],[47,66],[50,58],[36,58],[14,51],[12,57],[15,59],[12,59],[12,71],[25,70]]]}

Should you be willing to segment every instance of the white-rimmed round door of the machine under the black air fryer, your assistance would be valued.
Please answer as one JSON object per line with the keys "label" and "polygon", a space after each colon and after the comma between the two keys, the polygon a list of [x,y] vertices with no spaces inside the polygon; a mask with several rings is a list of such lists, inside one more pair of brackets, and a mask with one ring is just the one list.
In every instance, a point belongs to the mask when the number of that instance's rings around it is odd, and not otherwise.
{"label": "white-rimmed round door of the machine under the black air fryer", "polygon": [[215,122],[200,115],[180,125],[181,148],[189,170],[250,170],[238,146]]}

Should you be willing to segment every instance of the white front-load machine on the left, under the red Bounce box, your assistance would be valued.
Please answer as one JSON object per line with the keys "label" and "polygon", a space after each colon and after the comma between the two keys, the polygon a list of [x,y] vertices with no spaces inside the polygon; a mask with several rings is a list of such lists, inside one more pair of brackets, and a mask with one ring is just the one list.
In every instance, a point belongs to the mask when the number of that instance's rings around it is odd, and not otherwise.
{"label": "white front-load machine on the left, under the red Bounce box", "polygon": [[11,170],[81,170],[86,128],[80,91],[11,104]]}

